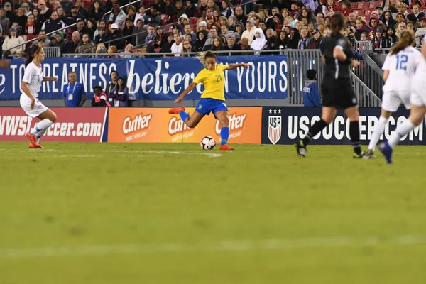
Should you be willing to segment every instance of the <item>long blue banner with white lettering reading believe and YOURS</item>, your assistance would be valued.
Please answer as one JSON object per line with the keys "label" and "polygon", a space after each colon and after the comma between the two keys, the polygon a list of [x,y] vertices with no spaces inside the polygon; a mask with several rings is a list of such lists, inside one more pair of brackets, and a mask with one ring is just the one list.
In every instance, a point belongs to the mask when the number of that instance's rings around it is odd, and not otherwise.
{"label": "long blue banner with white lettering reading believe and YOURS", "polygon": [[[285,55],[223,56],[219,63],[251,63],[249,69],[225,72],[226,99],[285,99],[288,94],[288,65]],[[104,89],[111,81],[109,74],[117,70],[125,77],[129,99],[176,99],[202,70],[197,58],[45,58],[45,77],[58,77],[58,82],[43,82],[40,99],[60,99],[68,84],[68,73],[77,73],[88,97],[93,87]],[[19,99],[23,59],[11,60],[9,70],[0,70],[0,99]],[[204,86],[199,84],[185,99],[199,99]]]}

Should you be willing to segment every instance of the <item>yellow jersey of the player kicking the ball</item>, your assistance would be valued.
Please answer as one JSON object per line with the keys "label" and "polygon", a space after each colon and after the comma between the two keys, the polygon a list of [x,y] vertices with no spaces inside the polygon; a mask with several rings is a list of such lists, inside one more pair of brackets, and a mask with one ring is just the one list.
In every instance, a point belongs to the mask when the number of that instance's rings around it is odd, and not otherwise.
{"label": "yellow jersey of the player kicking the ball", "polygon": [[204,92],[201,95],[201,98],[209,99],[220,99],[221,101],[225,100],[225,75],[224,70],[228,69],[228,65],[217,64],[216,68],[213,71],[204,68],[198,73],[195,77],[194,82],[197,84],[204,84]]}

